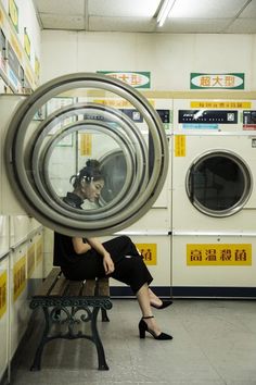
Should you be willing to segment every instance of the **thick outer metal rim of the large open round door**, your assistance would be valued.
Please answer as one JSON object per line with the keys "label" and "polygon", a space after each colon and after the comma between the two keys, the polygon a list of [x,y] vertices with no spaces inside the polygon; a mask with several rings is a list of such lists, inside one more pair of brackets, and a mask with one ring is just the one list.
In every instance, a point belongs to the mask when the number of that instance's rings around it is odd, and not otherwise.
{"label": "thick outer metal rim of the large open round door", "polygon": [[[63,225],[63,216],[52,211],[41,202],[40,197],[31,188],[24,166],[23,150],[26,136],[26,127],[29,126],[35,113],[50,98],[73,88],[99,88],[116,94],[128,100],[145,120],[154,145],[155,162],[152,169],[151,179],[142,194],[129,208],[128,212],[120,212],[118,218],[113,218],[104,223],[90,223],[85,228],[85,223],[78,223],[68,219],[68,224]],[[80,73],[61,76],[48,82],[29,96],[17,109],[12,119],[5,146],[5,161],[9,176],[14,190],[27,212],[31,213],[42,224],[68,234],[90,234],[97,231],[99,235],[119,231],[141,218],[155,202],[165,182],[168,167],[168,150],[166,135],[158,114],[150,102],[135,88],[117,79],[91,73]],[[22,149],[22,151],[21,151]]]}

